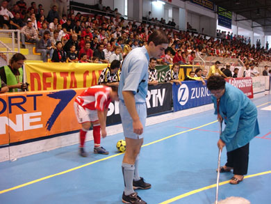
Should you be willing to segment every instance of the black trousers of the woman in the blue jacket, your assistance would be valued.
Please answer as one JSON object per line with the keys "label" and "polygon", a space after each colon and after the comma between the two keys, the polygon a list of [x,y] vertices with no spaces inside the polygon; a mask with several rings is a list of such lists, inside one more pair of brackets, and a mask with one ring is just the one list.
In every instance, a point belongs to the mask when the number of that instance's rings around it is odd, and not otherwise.
{"label": "black trousers of the woman in the blue jacket", "polygon": [[233,174],[235,175],[246,175],[249,162],[249,143],[245,146],[227,152],[227,163],[228,167],[233,168]]}

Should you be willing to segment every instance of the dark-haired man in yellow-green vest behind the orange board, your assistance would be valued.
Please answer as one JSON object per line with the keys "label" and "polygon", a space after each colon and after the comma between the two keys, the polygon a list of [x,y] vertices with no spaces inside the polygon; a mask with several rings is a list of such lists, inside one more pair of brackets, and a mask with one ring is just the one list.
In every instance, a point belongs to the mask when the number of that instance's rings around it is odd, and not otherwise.
{"label": "dark-haired man in yellow-green vest behind the orange board", "polygon": [[26,57],[23,54],[16,53],[10,59],[10,63],[7,66],[0,68],[0,77],[3,82],[8,86],[9,92],[25,91],[27,85],[23,84],[23,70],[22,65]]}

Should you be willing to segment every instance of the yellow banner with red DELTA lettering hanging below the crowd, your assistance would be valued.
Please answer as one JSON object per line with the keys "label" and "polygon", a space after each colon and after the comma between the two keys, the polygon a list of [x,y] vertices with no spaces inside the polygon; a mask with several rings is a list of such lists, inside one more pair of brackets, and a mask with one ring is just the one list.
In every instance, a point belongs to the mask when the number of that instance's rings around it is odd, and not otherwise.
{"label": "yellow banner with red DELTA lettering hanging below the crowd", "polygon": [[86,88],[97,85],[104,63],[26,63],[29,91]]}

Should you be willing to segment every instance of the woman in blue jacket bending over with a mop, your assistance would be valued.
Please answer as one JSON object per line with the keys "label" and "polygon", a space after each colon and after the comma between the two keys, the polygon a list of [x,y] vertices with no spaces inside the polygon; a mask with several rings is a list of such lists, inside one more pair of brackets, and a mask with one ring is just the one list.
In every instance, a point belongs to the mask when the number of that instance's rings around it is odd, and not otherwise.
{"label": "woman in blue jacket bending over with a mop", "polygon": [[207,81],[215,104],[217,120],[226,124],[218,148],[227,148],[227,163],[221,166],[221,173],[233,169],[230,183],[238,184],[247,174],[249,162],[249,141],[260,132],[258,130],[257,109],[251,100],[238,88],[231,86],[220,77],[212,76]]}

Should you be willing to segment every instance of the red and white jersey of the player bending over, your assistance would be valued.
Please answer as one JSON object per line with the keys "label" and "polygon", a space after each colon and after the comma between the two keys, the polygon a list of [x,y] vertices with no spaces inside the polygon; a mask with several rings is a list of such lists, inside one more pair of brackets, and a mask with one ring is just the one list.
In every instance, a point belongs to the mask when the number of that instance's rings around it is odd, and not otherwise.
{"label": "red and white jersey of the player bending over", "polygon": [[109,93],[110,87],[108,86],[91,86],[77,96],[75,102],[84,109],[104,111],[104,109],[108,109],[111,102]]}

